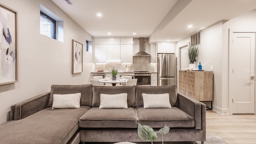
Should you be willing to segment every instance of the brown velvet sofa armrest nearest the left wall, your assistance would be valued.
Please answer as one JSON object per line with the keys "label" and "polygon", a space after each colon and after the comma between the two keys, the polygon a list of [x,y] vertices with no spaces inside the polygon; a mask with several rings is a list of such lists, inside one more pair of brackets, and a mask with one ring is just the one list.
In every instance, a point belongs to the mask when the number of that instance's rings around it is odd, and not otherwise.
{"label": "brown velvet sofa armrest nearest the left wall", "polygon": [[[46,92],[44,94],[40,94],[38,96],[32,97],[28,100],[24,100],[18,104],[14,104],[11,106],[11,110],[13,110],[13,120],[20,120],[22,118],[26,118],[31,114],[39,112],[45,108],[48,108],[48,102],[50,99],[50,92]],[[13,108],[14,107],[14,108]]]}

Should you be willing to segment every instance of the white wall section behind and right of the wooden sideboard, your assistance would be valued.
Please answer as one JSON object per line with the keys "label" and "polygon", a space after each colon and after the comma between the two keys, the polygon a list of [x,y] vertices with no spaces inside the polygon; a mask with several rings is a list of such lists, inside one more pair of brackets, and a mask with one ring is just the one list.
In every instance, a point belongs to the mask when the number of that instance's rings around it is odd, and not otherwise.
{"label": "white wall section behind and right of the wooden sideboard", "polygon": [[202,70],[213,66],[213,109],[222,108],[222,21],[201,31],[199,62]]}

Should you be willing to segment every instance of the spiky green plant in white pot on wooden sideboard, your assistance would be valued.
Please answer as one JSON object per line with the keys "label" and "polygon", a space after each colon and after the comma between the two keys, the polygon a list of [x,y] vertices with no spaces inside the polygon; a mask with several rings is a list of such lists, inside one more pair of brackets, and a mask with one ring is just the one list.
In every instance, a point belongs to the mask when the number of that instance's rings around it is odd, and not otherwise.
{"label": "spiky green plant in white pot on wooden sideboard", "polygon": [[198,46],[190,46],[190,48],[188,48],[188,58],[189,58],[189,64],[188,64],[188,68],[193,69],[196,67],[196,59],[198,57]]}

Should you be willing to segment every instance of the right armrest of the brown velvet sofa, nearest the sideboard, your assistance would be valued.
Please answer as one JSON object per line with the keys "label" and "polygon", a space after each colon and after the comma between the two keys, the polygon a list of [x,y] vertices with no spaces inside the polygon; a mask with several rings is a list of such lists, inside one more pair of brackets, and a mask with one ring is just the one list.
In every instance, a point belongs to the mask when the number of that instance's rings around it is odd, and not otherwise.
{"label": "right armrest of the brown velvet sofa, nearest the sideboard", "polygon": [[195,128],[205,129],[206,105],[180,92],[178,92],[178,102],[179,108],[194,118]]}

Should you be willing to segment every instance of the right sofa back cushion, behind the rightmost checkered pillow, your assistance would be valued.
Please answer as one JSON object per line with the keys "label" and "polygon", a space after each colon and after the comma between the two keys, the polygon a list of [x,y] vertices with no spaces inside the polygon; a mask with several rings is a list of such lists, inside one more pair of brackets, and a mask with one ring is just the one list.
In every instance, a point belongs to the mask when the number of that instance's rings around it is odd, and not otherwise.
{"label": "right sofa back cushion, behind the rightmost checkered pillow", "polygon": [[170,97],[170,104],[172,106],[178,105],[177,86],[140,86],[136,85],[136,107],[144,106],[142,94],[165,94],[168,93]]}

